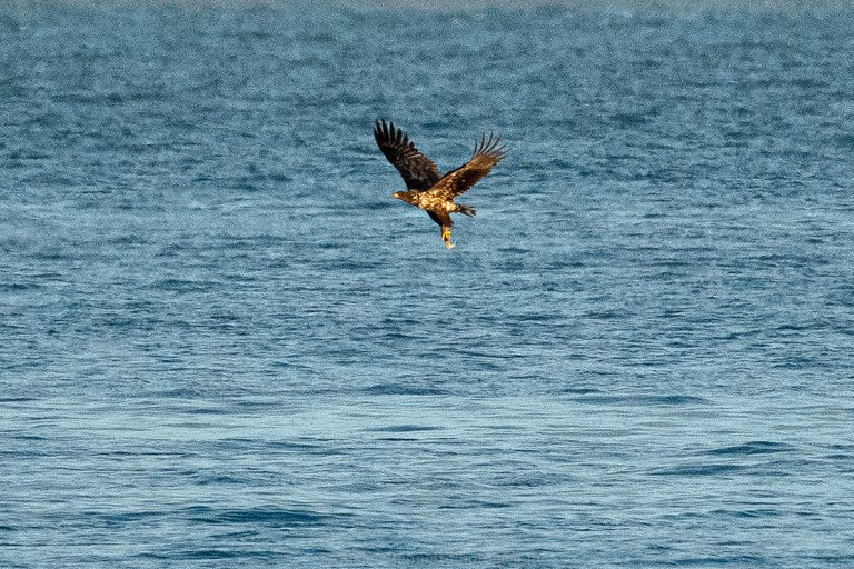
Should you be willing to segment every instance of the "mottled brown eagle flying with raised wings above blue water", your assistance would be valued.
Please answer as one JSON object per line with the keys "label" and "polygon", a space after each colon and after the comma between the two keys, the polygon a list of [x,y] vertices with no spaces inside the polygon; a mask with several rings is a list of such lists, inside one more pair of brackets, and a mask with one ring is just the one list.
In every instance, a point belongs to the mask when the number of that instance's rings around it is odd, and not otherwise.
{"label": "mottled brown eagle flying with raised wings above blue water", "polygon": [[393,122],[378,120],[374,127],[374,138],[406,183],[407,191],[396,191],[391,197],[426,211],[430,219],[441,227],[445,247],[451,249],[454,244],[450,242],[450,228],[454,221],[450,214],[475,214],[475,208],[455,203],[454,198],[465,193],[507,156],[502,139],[493,133],[487,138],[484,133],[480,142],[475,144],[475,151],[468,162],[443,176],[436,168],[436,162],[415,148],[409,137]]}

